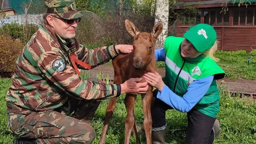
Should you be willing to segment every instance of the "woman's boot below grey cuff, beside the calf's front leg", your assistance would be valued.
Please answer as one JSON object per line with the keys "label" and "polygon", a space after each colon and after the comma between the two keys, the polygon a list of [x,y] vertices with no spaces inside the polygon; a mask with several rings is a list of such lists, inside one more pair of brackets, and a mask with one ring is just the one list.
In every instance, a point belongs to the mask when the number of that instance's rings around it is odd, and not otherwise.
{"label": "woman's boot below grey cuff, beside the calf's front leg", "polygon": [[166,135],[165,129],[163,131],[152,131],[151,132],[152,144],[164,144],[165,135]]}

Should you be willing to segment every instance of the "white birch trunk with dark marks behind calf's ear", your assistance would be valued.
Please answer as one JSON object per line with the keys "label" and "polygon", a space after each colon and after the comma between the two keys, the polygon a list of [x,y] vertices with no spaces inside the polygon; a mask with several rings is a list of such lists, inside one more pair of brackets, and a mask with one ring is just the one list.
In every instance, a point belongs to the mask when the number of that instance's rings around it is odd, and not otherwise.
{"label": "white birch trunk with dark marks behind calf's ear", "polygon": [[169,0],[156,0],[155,24],[163,22],[163,32],[156,40],[156,48],[164,47],[164,40],[168,34]]}

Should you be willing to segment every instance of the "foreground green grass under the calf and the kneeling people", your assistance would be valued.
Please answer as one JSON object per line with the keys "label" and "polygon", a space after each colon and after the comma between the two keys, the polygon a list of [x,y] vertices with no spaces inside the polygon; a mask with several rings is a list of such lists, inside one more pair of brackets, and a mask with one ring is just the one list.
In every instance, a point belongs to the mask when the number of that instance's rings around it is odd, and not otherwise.
{"label": "foreground green grass under the calf and the kneeling people", "polygon": [[[12,144],[15,135],[8,129],[6,118],[6,102],[5,95],[7,89],[11,85],[9,78],[0,78],[0,143]],[[123,103],[124,95],[120,96],[116,102],[116,110],[110,120],[106,143],[119,144],[124,143],[124,122],[125,122],[125,106]],[[229,105],[227,105],[227,102]],[[106,112],[108,100],[103,101],[96,111],[92,121],[92,126],[97,134],[94,144],[100,140],[103,129],[103,122]],[[240,144],[240,143],[256,143],[256,103],[255,100],[249,98],[231,97],[228,93],[222,93],[220,98],[220,113],[217,118],[220,120],[221,139],[215,140],[216,144]],[[168,123],[166,143],[179,144],[184,143],[187,128],[187,116],[174,110],[168,110],[166,114]],[[146,143],[145,133],[143,131],[143,110],[141,108],[141,98],[137,97],[135,104],[135,122],[139,131],[141,142]],[[132,136],[131,144],[135,144],[135,137]]]}

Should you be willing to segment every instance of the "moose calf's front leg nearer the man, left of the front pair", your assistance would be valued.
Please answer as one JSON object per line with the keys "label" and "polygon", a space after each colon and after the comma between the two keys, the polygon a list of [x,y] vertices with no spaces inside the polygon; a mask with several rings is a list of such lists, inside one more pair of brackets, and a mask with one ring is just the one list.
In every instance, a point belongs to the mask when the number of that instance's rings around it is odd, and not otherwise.
{"label": "moose calf's front leg nearer the man, left of the front pair", "polygon": [[129,144],[132,128],[134,125],[134,104],[136,100],[136,95],[126,94],[125,106],[127,111],[127,116],[125,118],[125,139],[124,144]]}

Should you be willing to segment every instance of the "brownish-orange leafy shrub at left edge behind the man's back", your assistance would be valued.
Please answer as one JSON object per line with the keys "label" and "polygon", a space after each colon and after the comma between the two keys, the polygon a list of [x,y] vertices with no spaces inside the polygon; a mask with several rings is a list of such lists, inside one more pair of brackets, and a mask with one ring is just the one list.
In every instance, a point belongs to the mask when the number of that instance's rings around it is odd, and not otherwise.
{"label": "brownish-orange leafy shrub at left edge behind the man's back", "polygon": [[12,72],[23,44],[10,36],[0,35],[0,72]]}

